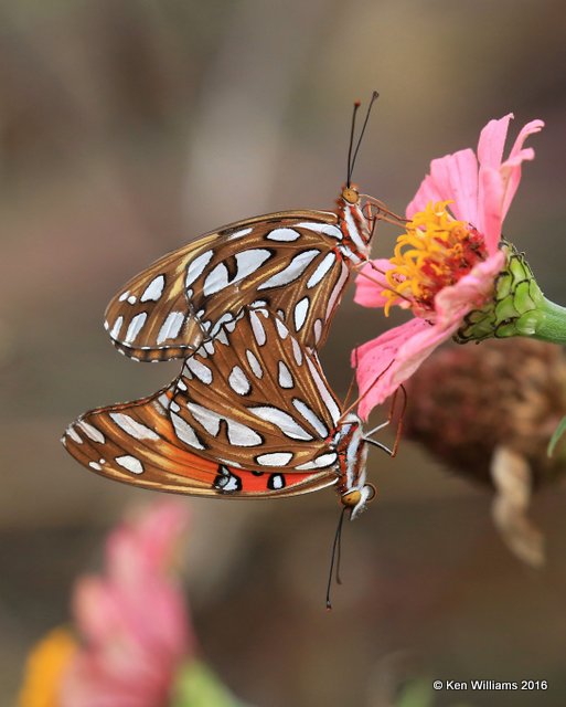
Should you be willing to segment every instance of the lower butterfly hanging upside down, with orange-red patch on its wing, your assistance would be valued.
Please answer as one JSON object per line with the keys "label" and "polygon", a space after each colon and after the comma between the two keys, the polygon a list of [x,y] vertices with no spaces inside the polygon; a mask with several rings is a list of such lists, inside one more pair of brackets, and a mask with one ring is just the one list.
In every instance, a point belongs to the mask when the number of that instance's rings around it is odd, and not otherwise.
{"label": "lower butterfly hanging upside down, with orange-red patch on its wing", "polygon": [[386,449],[341,409],[287,325],[249,307],[170,386],[85,413],[62,441],[87,468],[156,490],[268,498],[334,486],[352,518],[375,493],[366,444]]}

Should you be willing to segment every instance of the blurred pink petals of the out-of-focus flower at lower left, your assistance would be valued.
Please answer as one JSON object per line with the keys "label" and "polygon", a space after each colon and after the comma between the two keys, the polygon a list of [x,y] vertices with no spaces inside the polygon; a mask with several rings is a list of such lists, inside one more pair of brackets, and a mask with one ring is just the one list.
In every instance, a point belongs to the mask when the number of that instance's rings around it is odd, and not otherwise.
{"label": "blurred pink petals of the out-of-focus flower at lower left", "polygon": [[83,637],[66,672],[62,707],[162,707],[194,636],[170,569],[186,528],[183,505],[160,500],[108,538],[106,573],[74,594]]}

